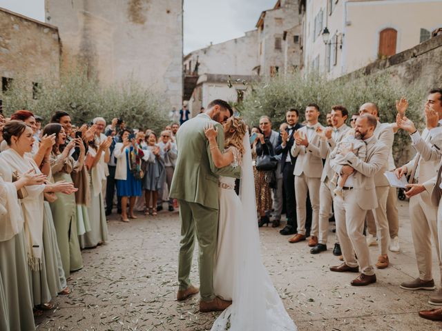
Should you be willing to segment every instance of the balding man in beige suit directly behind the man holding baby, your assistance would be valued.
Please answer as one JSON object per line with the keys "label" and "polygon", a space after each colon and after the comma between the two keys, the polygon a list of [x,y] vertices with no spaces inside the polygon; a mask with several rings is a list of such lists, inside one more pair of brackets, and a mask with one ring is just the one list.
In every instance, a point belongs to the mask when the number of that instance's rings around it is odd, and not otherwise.
{"label": "balding man in beige suit directly behind the man holding baby", "polygon": [[[384,143],[389,150],[389,157],[392,154],[392,147],[394,141],[394,132],[389,123],[381,123],[379,119],[379,110],[376,103],[364,103],[359,108],[359,114],[372,114],[377,119],[376,129],[374,130],[374,137]],[[378,240],[381,242],[380,255],[376,263],[376,268],[384,269],[388,266],[388,243],[390,241],[390,232],[388,230],[387,219],[387,198],[390,191],[390,183],[387,181],[387,177],[384,176],[384,172],[389,170],[388,159],[385,160],[381,170],[374,177],[374,185],[376,186],[376,196],[378,197],[378,207],[374,210],[370,210],[367,213],[368,221],[374,219],[376,229],[378,232]]]}

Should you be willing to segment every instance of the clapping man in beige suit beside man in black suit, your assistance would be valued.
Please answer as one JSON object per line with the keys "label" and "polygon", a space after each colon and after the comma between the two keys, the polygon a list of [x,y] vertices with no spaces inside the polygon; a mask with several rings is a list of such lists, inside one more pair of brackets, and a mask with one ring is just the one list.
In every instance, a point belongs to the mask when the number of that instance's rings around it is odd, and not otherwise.
{"label": "clapping man in beige suit beside man in black suit", "polygon": [[307,201],[307,190],[311,201],[311,230],[309,246],[318,244],[318,223],[319,223],[319,187],[320,176],[323,173],[323,160],[319,152],[319,136],[317,128],[324,130],[318,122],[319,106],[315,103],[305,108],[305,119],[307,126],[303,126],[295,132],[295,143],[291,148],[291,155],[298,157],[295,164],[295,194],[296,213],[298,214],[298,233],[289,239],[290,243],[297,243],[305,240],[305,220],[307,210],[304,201]]}

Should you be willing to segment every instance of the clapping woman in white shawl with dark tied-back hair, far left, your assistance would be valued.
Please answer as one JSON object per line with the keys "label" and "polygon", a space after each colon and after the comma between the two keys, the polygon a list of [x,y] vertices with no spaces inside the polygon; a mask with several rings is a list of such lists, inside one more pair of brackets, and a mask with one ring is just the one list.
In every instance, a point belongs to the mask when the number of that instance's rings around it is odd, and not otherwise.
{"label": "clapping woman in white shawl with dark tied-back hair, far left", "polygon": [[[15,181],[29,170],[37,174],[41,173],[35,161],[25,155],[32,151],[35,142],[31,128],[22,121],[10,121],[3,128],[3,138],[9,146],[8,150],[0,154],[0,163],[6,165],[3,167],[3,180]],[[44,192],[70,194],[75,192],[75,188],[72,183],[59,182],[31,185],[19,192],[25,223],[29,277],[34,305],[46,304],[52,298],[44,259]]]}

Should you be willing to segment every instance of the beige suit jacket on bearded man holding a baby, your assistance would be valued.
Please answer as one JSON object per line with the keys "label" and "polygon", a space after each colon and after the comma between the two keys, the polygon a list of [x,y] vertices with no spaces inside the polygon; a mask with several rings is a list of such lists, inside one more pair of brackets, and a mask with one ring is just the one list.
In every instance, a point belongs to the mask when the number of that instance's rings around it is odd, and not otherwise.
{"label": "beige suit jacket on bearded man holding a baby", "polygon": [[[365,161],[356,157],[352,152],[345,156],[345,160],[355,170],[353,174],[353,190],[357,192],[356,197],[358,198],[356,202],[361,209],[370,210],[378,207],[374,177],[388,159],[390,149],[374,136],[365,142],[367,143]],[[340,174],[343,165],[334,162],[334,159],[330,160],[330,165],[335,172]]]}

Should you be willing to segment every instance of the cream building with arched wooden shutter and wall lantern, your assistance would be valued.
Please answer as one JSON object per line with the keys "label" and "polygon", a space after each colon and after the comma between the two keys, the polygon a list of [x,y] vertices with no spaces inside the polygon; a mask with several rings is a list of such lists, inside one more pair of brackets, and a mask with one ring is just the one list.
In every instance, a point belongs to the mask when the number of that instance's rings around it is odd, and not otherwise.
{"label": "cream building with arched wooden shutter and wall lantern", "polygon": [[300,0],[299,8],[304,68],[330,79],[412,48],[442,27],[440,0]]}

